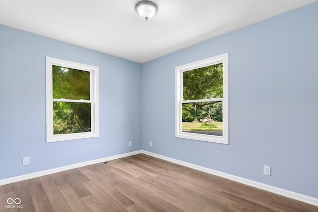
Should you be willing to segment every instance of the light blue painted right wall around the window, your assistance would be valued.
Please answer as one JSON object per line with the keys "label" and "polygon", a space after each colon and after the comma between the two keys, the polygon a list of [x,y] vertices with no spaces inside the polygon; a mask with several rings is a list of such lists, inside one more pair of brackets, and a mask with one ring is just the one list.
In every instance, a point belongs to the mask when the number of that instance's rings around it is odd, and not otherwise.
{"label": "light blue painted right wall around the window", "polygon": [[[226,52],[230,144],[175,138],[174,68]],[[316,1],[142,64],[143,149],[318,198],[317,91]]]}

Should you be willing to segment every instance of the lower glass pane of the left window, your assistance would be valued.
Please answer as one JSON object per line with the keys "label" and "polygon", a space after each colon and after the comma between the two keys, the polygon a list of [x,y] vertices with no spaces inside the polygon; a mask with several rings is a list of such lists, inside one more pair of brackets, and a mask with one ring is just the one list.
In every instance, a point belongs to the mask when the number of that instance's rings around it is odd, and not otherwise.
{"label": "lower glass pane of the left window", "polygon": [[53,134],[90,132],[90,103],[53,102]]}

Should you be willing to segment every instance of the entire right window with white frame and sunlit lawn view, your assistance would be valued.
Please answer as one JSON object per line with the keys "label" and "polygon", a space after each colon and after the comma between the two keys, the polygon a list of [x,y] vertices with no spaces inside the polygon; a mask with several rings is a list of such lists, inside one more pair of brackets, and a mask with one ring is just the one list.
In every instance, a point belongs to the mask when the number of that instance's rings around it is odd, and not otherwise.
{"label": "entire right window with white frame and sunlit lawn view", "polygon": [[175,137],[228,144],[229,53],[175,68]]}

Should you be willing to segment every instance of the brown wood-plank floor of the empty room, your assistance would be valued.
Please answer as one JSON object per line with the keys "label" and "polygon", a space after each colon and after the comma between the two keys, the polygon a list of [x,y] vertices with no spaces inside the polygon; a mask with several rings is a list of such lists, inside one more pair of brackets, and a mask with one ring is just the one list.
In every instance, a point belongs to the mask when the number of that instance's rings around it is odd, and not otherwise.
{"label": "brown wood-plank floor of the empty room", "polygon": [[[145,154],[116,161],[0,186],[0,212],[318,212]],[[5,208],[8,198],[19,198],[23,208]]]}

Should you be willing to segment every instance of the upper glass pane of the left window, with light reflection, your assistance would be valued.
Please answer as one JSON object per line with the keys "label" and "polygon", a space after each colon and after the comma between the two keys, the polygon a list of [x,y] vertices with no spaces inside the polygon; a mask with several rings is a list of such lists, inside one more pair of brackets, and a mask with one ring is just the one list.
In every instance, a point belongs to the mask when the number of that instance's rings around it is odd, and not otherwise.
{"label": "upper glass pane of the left window, with light reflection", "polygon": [[53,65],[53,99],[90,100],[89,72]]}

